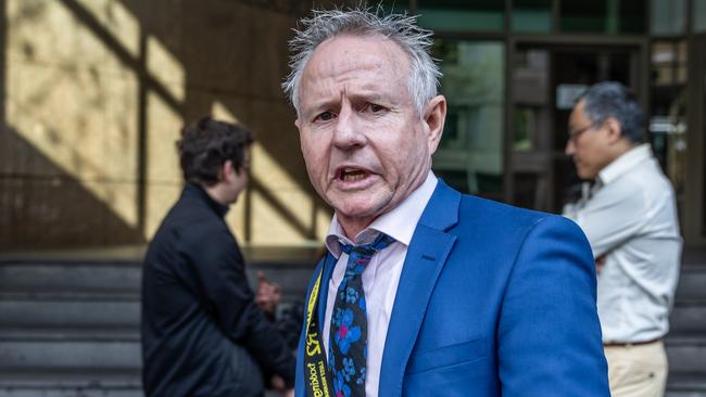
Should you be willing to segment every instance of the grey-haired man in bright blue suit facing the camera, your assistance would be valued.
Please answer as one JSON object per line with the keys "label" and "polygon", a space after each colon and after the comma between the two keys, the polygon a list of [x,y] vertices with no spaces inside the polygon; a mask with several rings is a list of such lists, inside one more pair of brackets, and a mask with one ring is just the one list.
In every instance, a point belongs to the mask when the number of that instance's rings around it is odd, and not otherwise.
{"label": "grey-haired man in bright blue suit facing the camera", "polygon": [[570,220],[431,172],[446,101],[431,33],[318,11],[283,84],[335,208],[308,289],[297,396],[609,396],[591,248]]}

